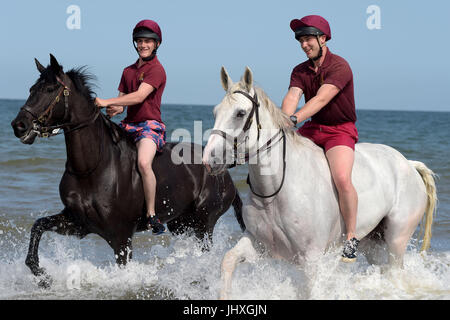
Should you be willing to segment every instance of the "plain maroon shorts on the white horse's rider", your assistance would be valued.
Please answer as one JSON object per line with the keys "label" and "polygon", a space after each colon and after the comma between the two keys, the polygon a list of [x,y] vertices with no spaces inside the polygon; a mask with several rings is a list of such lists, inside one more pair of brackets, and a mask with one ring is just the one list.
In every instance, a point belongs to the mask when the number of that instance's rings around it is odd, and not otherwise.
{"label": "plain maroon shorts on the white horse's rider", "polygon": [[353,122],[326,126],[308,121],[297,130],[297,133],[311,139],[325,149],[325,152],[335,146],[348,146],[355,150],[355,143],[358,142],[358,130]]}

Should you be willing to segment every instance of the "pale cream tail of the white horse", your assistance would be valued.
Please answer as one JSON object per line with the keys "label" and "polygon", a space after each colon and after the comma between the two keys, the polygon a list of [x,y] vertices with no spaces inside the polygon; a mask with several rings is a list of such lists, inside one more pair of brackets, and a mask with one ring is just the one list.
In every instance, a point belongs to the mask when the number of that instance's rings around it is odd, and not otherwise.
{"label": "pale cream tail of the white horse", "polygon": [[[427,191],[427,207],[423,217],[424,221],[422,221],[420,227],[421,234],[423,234],[422,248],[420,251],[425,251],[430,247],[431,225],[433,224],[433,216],[436,212],[436,203],[438,200],[436,195],[436,184],[434,181],[436,174],[422,162],[411,160],[409,160],[409,162],[414,166],[417,172],[419,172]],[[425,227],[423,226],[424,223]]]}

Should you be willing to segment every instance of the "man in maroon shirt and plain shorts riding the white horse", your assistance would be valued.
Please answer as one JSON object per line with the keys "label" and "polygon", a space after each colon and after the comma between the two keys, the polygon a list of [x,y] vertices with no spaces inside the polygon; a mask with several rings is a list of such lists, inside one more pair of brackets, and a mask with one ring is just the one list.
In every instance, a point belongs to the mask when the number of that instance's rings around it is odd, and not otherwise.
{"label": "man in maroon shirt and plain shorts riding the white horse", "polygon": [[[331,30],[323,17],[294,19],[290,27],[308,60],[293,69],[282,110],[294,125],[311,118],[298,133],[325,151],[347,232],[342,258],[353,262],[359,240],[355,234],[358,195],[351,179],[358,141],[352,70],[327,47]],[[296,112],[303,94],[305,105]]]}

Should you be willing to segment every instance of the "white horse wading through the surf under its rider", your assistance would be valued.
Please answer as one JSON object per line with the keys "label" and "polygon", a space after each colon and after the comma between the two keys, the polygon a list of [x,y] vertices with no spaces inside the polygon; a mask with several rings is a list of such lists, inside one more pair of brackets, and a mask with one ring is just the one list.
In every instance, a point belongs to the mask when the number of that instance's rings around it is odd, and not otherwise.
{"label": "white horse wading through the surf under its rider", "polygon": [[[253,86],[249,68],[235,84],[222,68],[221,80],[226,95],[214,108],[203,162],[214,174],[229,167],[230,158],[248,161],[252,189],[243,206],[246,232],[222,262],[220,298],[227,299],[236,264],[258,257],[255,240],[271,256],[302,264],[342,243],[345,224],[323,150],[292,130],[281,109]],[[358,143],[352,181],[361,244],[376,239],[387,246],[390,264],[402,266],[424,217],[422,250],[429,247],[437,198],[434,173],[423,163],[386,145]]]}

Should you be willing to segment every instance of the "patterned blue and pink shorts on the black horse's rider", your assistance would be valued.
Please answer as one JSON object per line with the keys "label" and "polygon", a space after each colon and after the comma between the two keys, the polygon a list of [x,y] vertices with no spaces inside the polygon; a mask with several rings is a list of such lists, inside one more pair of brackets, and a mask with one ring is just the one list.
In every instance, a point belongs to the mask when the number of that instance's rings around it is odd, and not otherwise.
{"label": "patterned blue and pink shorts on the black horse's rider", "polygon": [[161,151],[166,143],[166,126],[156,120],[147,120],[139,123],[121,121],[119,125],[131,135],[134,142],[138,142],[143,138],[152,139],[158,151]]}

